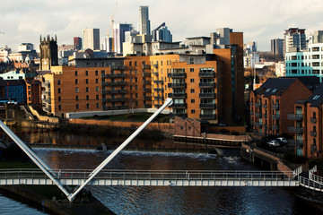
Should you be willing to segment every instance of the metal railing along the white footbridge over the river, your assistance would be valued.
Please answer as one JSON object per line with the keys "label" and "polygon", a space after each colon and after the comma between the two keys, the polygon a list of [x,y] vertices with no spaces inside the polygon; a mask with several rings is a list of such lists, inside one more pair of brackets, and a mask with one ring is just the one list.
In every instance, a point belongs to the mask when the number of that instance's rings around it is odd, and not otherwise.
{"label": "metal railing along the white footbridge over the river", "polygon": [[[53,169],[58,179],[87,179],[92,170]],[[39,169],[1,169],[0,178],[47,178]],[[125,170],[103,169],[97,179],[122,180],[293,180],[293,173],[281,171],[235,170]]]}

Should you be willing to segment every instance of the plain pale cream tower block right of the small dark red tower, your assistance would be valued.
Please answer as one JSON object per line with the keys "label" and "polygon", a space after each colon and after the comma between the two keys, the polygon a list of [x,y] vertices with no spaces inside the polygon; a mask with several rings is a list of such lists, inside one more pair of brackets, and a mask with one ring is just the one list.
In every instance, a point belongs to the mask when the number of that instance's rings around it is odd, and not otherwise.
{"label": "plain pale cream tower block right of the small dark red tower", "polygon": [[83,50],[100,50],[100,29],[83,30]]}

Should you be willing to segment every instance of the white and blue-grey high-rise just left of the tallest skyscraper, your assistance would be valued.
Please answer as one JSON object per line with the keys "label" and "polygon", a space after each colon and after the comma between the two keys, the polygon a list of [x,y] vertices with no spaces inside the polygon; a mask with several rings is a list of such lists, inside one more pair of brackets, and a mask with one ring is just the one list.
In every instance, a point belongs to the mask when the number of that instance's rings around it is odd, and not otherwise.
{"label": "white and blue-grey high-rise just left of the tallest skyscraper", "polygon": [[123,51],[122,44],[126,41],[126,31],[133,30],[132,24],[114,24],[114,50],[121,55]]}

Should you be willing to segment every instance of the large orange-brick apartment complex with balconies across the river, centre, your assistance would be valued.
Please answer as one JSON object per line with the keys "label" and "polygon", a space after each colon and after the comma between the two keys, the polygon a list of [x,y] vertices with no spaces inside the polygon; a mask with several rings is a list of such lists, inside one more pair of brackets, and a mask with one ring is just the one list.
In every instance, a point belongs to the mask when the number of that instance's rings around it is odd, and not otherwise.
{"label": "large orange-brick apartment complex with balconies across the river, centre", "polygon": [[231,44],[213,54],[75,58],[66,66],[52,65],[51,73],[42,77],[44,110],[65,117],[71,112],[158,108],[172,98],[173,116],[237,123],[244,110],[243,34],[230,35]]}

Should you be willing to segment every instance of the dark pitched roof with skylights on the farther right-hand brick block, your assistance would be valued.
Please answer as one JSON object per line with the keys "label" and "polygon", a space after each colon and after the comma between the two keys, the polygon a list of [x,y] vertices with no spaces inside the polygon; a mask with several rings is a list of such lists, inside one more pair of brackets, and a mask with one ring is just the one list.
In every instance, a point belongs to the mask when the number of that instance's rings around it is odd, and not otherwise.
{"label": "dark pitched roof with skylights on the farther right-hand brick block", "polygon": [[269,78],[260,88],[255,90],[255,93],[264,95],[265,97],[271,95],[279,96],[295,81],[295,78]]}

